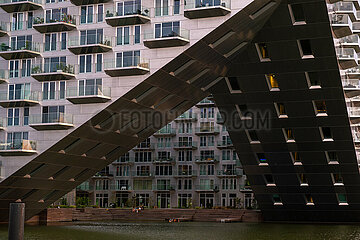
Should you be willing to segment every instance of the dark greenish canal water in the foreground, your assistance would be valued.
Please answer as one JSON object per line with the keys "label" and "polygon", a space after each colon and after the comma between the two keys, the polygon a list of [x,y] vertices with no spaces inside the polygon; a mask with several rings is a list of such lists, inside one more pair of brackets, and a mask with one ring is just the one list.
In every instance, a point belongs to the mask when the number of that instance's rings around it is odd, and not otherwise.
{"label": "dark greenish canal water in the foreground", "polygon": [[[6,226],[0,239],[7,240]],[[360,240],[359,225],[80,222],[26,226],[26,240]]]}

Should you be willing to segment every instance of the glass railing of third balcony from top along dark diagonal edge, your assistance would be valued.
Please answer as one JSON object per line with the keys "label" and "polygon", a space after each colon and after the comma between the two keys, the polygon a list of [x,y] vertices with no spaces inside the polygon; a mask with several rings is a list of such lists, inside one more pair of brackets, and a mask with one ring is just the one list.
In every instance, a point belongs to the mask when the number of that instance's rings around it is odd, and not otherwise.
{"label": "glass railing of third balcony from top along dark diagonal edge", "polygon": [[104,61],[104,69],[121,69],[121,68],[131,68],[131,67],[141,67],[149,69],[150,61],[149,59],[140,58],[140,57],[123,57],[119,59],[110,59]]}

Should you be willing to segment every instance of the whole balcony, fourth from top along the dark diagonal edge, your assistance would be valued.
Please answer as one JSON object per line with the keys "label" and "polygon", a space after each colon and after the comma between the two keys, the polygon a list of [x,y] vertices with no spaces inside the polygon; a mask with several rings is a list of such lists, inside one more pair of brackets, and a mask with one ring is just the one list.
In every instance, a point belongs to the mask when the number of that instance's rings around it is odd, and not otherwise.
{"label": "whole balcony, fourth from top along the dark diagonal edge", "polygon": [[68,87],[66,99],[73,104],[105,103],[111,100],[111,89],[102,86]]}

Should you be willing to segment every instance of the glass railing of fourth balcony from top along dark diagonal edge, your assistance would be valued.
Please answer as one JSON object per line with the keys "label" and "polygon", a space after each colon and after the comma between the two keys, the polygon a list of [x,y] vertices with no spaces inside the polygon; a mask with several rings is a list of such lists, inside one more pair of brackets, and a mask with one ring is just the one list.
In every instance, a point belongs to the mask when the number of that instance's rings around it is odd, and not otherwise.
{"label": "glass railing of fourth balcony from top along dark diagonal edge", "polygon": [[103,86],[85,86],[66,88],[67,97],[104,96],[111,97],[111,88]]}

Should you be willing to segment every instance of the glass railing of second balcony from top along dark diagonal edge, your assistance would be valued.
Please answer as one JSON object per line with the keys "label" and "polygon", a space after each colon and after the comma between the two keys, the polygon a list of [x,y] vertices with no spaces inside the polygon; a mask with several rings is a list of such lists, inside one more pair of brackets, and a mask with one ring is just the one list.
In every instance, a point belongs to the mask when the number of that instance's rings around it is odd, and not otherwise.
{"label": "glass railing of second balcony from top along dark diagonal edge", "polygon": [[187,29],[163,27],[159,31],[147,30],[144,32],[144,40],[166,39],[173,37],[180,37],[189,40],[190,31]]}

